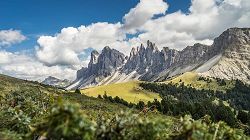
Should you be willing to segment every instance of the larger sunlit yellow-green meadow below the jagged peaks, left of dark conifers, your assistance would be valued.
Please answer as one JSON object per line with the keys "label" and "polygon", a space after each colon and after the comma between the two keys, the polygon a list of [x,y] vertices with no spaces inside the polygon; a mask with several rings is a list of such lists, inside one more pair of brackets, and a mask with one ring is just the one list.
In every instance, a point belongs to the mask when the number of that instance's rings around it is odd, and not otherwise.
{"label": "larger sunlit yellow-green meadow below the jagged peaks, left of dark conifers", "polygon": [[118,96],[128,102],[137,103],[139,101],[160,100],[157,93],[149,92],[140,88],[138,81],[96,86],[87,89],[82,89],[81,92],[87,96],[97,97],[98,95]]}

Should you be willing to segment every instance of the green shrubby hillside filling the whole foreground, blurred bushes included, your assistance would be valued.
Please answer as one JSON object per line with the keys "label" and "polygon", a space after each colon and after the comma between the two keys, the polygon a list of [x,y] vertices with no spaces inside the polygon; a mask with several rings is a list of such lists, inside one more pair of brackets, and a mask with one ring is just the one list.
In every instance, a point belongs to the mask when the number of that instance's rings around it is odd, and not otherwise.
{"label": "green shrubby hillside filling the whole foreground, blurred bushes included", "polygon": [[249,139],[244,128],[214,121],[208,115],[192,119],[192,114],[176,116],[159,106],[158,111],[145,111],[142,102],[128,107],[118,98],[92,98],[4,78],[0,82],[0,139]]}

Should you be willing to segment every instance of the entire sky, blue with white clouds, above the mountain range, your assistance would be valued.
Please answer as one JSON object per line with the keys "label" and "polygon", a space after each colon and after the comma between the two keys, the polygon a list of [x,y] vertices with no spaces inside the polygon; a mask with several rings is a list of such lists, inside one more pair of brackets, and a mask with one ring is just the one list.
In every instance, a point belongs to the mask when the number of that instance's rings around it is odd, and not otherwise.
{"label": "entire sky, blue with white clouds, above the mountain range", "polygon": [[249,0],[1,0],[0,73],[74,80],[94,49],[182,50],[231,27],[250,27]]}

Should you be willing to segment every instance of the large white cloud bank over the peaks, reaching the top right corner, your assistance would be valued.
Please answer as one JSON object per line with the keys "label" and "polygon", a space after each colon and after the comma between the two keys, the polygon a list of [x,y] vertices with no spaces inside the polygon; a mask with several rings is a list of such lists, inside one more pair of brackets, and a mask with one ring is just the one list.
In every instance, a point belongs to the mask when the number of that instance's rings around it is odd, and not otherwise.
{"label": "large white cloud bank over the peaks, reaching the top right corner", "polygon": [[[41,36],[37,57],[49,66],[76,65],[87,48],[101,50],[108,45],[128,54],[131,46],[147,40],[160,48],[183,49],[194,43],[212,44],[227,28],[250,23],[247,0],[192,0],[188,13],[167,13],[167,9],[163,0],[141,0],[124,15],[122,23],[68,27],[55,36]],[[128,34],[133,37],[126,38]]]}

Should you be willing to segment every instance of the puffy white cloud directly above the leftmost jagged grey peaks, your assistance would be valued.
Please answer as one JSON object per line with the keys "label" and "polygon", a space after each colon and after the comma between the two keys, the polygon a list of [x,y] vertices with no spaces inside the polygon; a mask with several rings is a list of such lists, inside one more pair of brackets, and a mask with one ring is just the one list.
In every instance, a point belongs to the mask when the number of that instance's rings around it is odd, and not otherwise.
{"label": "puffy white cloud directly above the leftmost jagged grey peaks", "polygon": [[63,28],[55,36],[38,39],[37,58],[46,65],[79,65],[79,54],[88,48],[101,50],[104,46],[122,49],[125,34],[120,32],[120,23],[95,23],[78,28]]}

